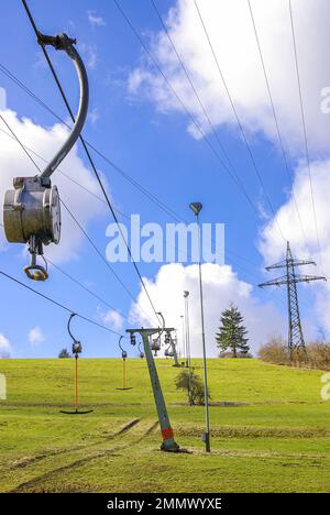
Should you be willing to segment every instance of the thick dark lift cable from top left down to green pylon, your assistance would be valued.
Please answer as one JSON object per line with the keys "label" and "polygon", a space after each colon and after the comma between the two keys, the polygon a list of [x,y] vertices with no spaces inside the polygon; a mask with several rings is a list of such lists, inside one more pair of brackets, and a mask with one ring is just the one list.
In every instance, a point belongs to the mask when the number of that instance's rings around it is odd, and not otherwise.
{"label": "thick dark lift cable from top left down to green pylon", "polygon": [[[35,32],[35,35],[36,35],[36,37],[37,37],[37,40],[38,40],[40,32],[38,32],[38,30],[36,29],[35,22],[34,22],[34,20],[33,20],[33,17],[32,17],[30,10],[29,10],[28,3],[26,3],[25,0],[22,0],[22,2],[23,2],[23,6],[24,6],[24,9],[25,9],[25,11],[26,11],[26,14],[28,14],[28,17],[29,17],[29,20],[30,20],[30,22],[31,22],[31,24],[32,24],[32,28],[33,28],[33,30],[34,30],[34,32]],[[61,81],[59,81],[59,79],[58,79],[58,77],[57,77],[57,74],[56,74],[56,72],[55,72],[55,68],[54,68],[54,66],[53,66],[53,64],[52,64],[52,61],[51,61],[51,58],[50,58],[50,56],[48,56],[48,53],[47,53],[46,48],[45,48],[45,45],[44,45],[42,42],[41,42],[41,47],[42,47],[43,54],[44,54],[44,56],[45,56],[45,58],[46,58],[46,61],[47,61],[47,63],[48,63],[48,66],[50,66],[50,68],[51,68],[51,72],[52,72],[52,74],[53,74],[53,77],[54,77],[54,79],[55,79],[55,83],[56,83],[56,85],[57,85],[57,87],[58,87],[58,89],[59,89],[61,96],[62,96],[62,98],[63,98],[63,100],[64,100],[64,102],[65,102],[65,105],[66,105],[66,108],[67,108],[67,110],[68,110],[68,112],[69,112],[69,114],[70,114],[70,117],[72,117],[72,119],[73,119],[73,122],[75,122],[75,117],[74,117],[74,113],[73,113],[73,111],[72,111],[72,109],[70,109],[70,106],[69,106],[69,103],[68,103],[68,100],[67,100],[67,98],[66,98],[66,95],[65,95],[65,92],[64,92],[64,89],[63,89],[63,87],[62,87],[62,85],[61,85]],[[145,295],[146,295],[146,297],[147,297],[147,299],[148,299],[148,302],[150,302],[150,305],[151,305],[151,307],[152,307],[152,309],[153,309],[153,311],[154,311],[156,318],[160,320],[160,316],[158,316],[158,314],[157,314],[157,311],[156,311],[156,309],[155,309],[155,306],[154,306],[154,304],[153,304],[153,300],[152,300],[152,298],[151,298],[151,296],[150,296],[150,294],[148,294],[148,292],[147,292],[147,288],[146,288],[146,285],[145,285],[145,283],[144,283],[144,280],[143,280],[143,277],[142,277],[142,275],[141,275],[141,272],[140,272],[140,270],[139,270],[139,267],[138,267],[138,265],[136,265],[136,263],[135,263],[135,261],[134,261],[134,259],[133,259],[133,255],[132,255],[130,245],[129,245],[129,243],[127,242],[127,239],[125,239],[125,237],[124,237],[124,234],[123,234],[123,231],[122,231],[121,226],[120,226],[120,223],[119,223],[119,221],[118,221],[117,215],[116,215],[116,212],[114,212],[114,210],[113,210],[113,208],[112,208],[112,205],[111,205],[111,202],[110,202],[109,196],[108,196],[108,194],[107,194],[107,191],[106,191],[106,188],[105,188],[105,186],[103,186],[103,183],[102,183],[102,180],[101,180],[101,177],[100,177],[100,175],[99,175],[99,173],[98,173],[98,171],[97,171],[97,168],[96,168],[96,166],[95,166],[95,164],[94,164],[94,161],[92,161],[92,158],[91,158],[91,155],[90,155],[90,153],[89,153],[89,151],[88,151],[88,147],[87,147],[87,145],[86,145],[86,143],[85,143],[82,136],[80,135],[79,138],[80,138],[81,144],[82,144],[82,146],[84,146],[84,150],[85,150],[85,152],[86,152],[86,155],[87,155],[87,157],[88,157],[88,161],[89,161],[89,163],[90,163],[90,165],[91,165],[91,167],[92,167],[92,171],[94,171],[94,173],[95,173],[95,176],[96,176],[96,178],[97,178],[97,180],[98,180],[98,183],[99,183],[99,186],[100,186],[100,188],[101,188],[101,190],[102,190],[102,194],[103,194],[103,196],[105,196],[105,199],[106,199],[106,201],[107,201],[107,204],[108,204],[108,207],[109,207],[109,209],[110,209],[110,211],[111,211],[111,215],[112,215],[112,217],[113,217],[113,219],[114,219],[114,221],[116,221],[116,223],[117,223],[118,230],[119,230],[119,232],[120,232],[120,234],[121,234],[121,237],[122,237],[122,240],[123,240],[123,242],[124,242],[124,244],[125,244],[125,248],[127,248],[128,253],[129,253],[129,255],[130,255],[131,262],[132,262],[132,264],[133,264],[133,266],[134,266],[134,269],[135,269],[135,272],[136,272],[136,274],[138,274],[138,277],[139,277],[139,280],[140,280],[140,282],[141,282],[141,285],[142,285],[142,287],[143,287],[143,291],[144,291],[144,293],[145,293]]]}

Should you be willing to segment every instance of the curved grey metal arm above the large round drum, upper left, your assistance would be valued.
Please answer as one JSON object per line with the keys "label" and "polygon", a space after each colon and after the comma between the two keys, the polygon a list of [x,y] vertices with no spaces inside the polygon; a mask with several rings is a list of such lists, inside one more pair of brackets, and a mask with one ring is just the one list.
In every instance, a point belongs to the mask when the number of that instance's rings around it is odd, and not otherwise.
{"label": "curved grey metal arm above the large round drum, upper left", "polygon": [[88,87],[88,77],[87,77],[85,65],[81,61],[80,55],[74,47],[76,40],[72,40],[66,34],[48,36],[48,35],[43,35],[40,33],[37,41],[42,45],[52,45],[56,50],[62,50],[67,53],[67,55],[73,59],[75,64],[78,79],[79,79],[79,85],[80,85],[79,109],[78,109],[75,124],[66,142],[62,145],[62,147],[59,149],[57,154],[53,157],[51,163],[40,174],[42,178],[46,178],[46,177],[51,177],[51,175],[55,172],[57,166],[66,157],[66,155],[69,153],[69,151],[72,150],[72,147],[74,146],[74,144],[76,143],[77,139],[80,135],[80,132],[82,130],[82,127],[86,120],[87,110],[88,110],[89,87]]}

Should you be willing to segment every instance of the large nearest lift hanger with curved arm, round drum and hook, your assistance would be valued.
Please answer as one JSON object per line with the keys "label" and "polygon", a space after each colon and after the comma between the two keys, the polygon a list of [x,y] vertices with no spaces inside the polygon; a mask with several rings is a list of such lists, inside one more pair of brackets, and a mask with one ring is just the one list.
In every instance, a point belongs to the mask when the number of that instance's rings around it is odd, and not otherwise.
{"label": "large nearest lift hanger with curved arm, round drum and hook", "polygon": [[3,224],[10,243],[29,243],[30,265],[24,267],[29,278],[45,281],[47,271],[36,264],[36,256],[43,255],[43,245],[57,244],[61,239],[61,205],[56,186],[51,176],[67,156],[79,138],[88,110],[89,88],[86,68],[75,48],[76,40],[66,34],[50,36],[38,33],[37,42],[64,51],[73,59],[80,86],[79,109],[68,138],[47,166],[34,177],[15,177],[14,189],[4,194]]}

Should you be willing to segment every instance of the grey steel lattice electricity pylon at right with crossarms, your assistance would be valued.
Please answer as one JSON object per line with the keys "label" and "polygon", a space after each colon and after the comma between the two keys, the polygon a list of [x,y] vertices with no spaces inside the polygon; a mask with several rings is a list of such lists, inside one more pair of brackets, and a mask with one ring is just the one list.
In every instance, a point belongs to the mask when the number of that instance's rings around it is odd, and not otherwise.
{"label": "grey steel lattice electricity pylon at right with crossarms", "polygon": [[274,265],[266,266],[266,271],[285,269],[286,275],[283,275],[272,281],[267,281],[258,285],[262,288],[264,286],[280,286],[282,284],[286,284],[288,306],[288,348],[290,351],[290,357],[293,355],[294,349],[305,350],[305,340],[299,314],[297,283],[310,283],[310,281],[327,281],[326,277],[319,275],[296,274],[296,266],[302,266],[308,264],[316,265],[314,261],[295,260],[292,254],[290,244],[289,242],[287,242],[286,259]]}

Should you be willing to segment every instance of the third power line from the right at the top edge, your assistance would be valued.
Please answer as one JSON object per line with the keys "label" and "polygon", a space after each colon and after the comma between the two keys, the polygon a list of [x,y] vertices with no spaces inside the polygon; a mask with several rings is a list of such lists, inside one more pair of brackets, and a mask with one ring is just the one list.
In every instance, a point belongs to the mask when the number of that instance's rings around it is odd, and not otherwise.
{"label": "third power line from the right at the top edge", "polygon": [[[116,1],[116,0],[114,0],[114,1]],[[251,146],[250,146],[250,144],[249,144],[249,142],[248,142],[248,138],[246,138],[245,131],[244,131],[244,129],[243,129],[242,122],[241,122],[240,117],[239,117],[239,114],[238,114],[235,105],[234,105],[233,99],[232,99],[232,97],[231,97],[229,87],[228,87],[228,85],[227,85],[227,81],[226,81],[226,79],[224,79],[223,73],[222,73],[221,67],[220,67],[220,64],[219,64],[219,59],[218,59],[217,54],[216,54],[216,52],[215,52],[213,45],[212,45],[212,43],[211,43],[209,33],[208,33],[208,31],[207,31],[206,24],[205,24],[205,22],[204,22],[202,15],[201,15],[201,13],[200,13],[200,10],[199,10],[199,8],[198,8],[198,4],[197,4],[196,0],[194,0],[194,3],[195,3],[195,7],[196,7],[196,10],[197,10],[197,13],[198,13],[200,23],[201,23],[201,25],[202,25],[202,29],[204,29],[206,39],[207,39],[207,41],[208,41],[208,44],[209,44],[211,54],[212,54],[213,59],[215,59],[215,62],[216,62],[217,69],[218,69],[218,72],[219,72],[220,78],[221,78],[222,84],[223,84],[223,86],[224,86],[224,89],[226,89],[226,92],[227,92],[229,102],[230,102],[231,108],[232,108],[232,111],[233,111],[233,113],[234,113],[237,123],[238,123],[239,129],[240,129],[240,132],[241,132],[241,134],[242,134],[242,138],[243,138],[243,141],[244,141],[245,147],[246,147],[246,150],[248,150],[248,153],[249,153],[249,156],[250,156],[252,166],[253,166],[254,172],[255,172],[255,174],[256,174],[256,176],[257,176],[257,179],[258,179],[258,182],[260,182],[260,185],[261,185],[261,188],[262,188],[262,190],[263,190],[263,193],[264,193],[264,196],[265,196],[265,198],[266,198],[266,200],[267,200],[268,207],[270,207],[270,209],[271,209],[271,211],[272,211],[272,213],[273,213],[273,216],[274,216],[274,220],[275,220],[277,230],[278,230],[280,237],[283,238],[283,240],[285,240],[284,234],[283,234],[283,231],[282,231],[282,228],[280,228],[279,222],[278,222],[278,220],[277,220],[277,218],[276,218],[275,210],[274,210],[273,205],[272,205],[272,202],[271,202],[271,199],[270,199],[270,197],[268,197],[268,195],[267,195],[267,193],[266,193],[266,190],[265,190],[265,186],[264,186],[263,178],[262,178],[261,173],[260,173],[260,171],[258,171],[258,167],[257,167],[257,165],[256,165],[256,162],[255,162],[255,158],[254,158],[254,156],[253,156]]]}

